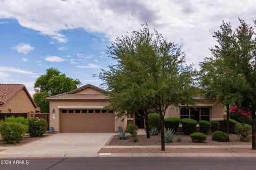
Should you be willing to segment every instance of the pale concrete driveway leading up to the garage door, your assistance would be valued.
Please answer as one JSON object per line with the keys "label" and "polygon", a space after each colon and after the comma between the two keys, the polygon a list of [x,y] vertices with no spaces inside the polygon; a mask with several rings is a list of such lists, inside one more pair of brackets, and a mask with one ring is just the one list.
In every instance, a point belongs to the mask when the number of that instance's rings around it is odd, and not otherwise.
{"label": "pale concrete driveway leading up to the garage door", "polygon": [[114,133],[58,133],[19,147],[1,147],[0,157],[97,156]]}

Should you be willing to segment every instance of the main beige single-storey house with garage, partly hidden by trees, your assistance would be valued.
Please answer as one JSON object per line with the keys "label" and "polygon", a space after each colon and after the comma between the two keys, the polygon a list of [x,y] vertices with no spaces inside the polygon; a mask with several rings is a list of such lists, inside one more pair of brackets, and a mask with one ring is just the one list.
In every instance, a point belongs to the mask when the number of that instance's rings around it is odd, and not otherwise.
{"label": "main beige single-storey house with garage, partly hidden by trees", "polygon": [[[116,132],[126,129],[127,121],[144,127],[140,112],[117,119],[113,111],[103,109],[109,105],[106,91],[91,84],[65,94],[47,97],[50,101],[50,127],[54,132]],[[189,108],[169,107],[165,117],[194,118],[195,120],[223,120],[223,107],[214,100],[205,102],[197,98],[197,106]]]}

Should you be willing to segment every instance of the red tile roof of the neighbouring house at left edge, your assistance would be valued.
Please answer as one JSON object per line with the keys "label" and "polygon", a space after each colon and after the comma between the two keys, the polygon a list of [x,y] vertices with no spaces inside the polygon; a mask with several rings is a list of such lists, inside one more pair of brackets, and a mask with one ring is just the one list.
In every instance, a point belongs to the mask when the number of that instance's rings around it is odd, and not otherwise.
{"label": "red tile roof of the neighbouring house at left edge", "polygon": [[23,84],[0,84],[0,103],[6,103],[8,100],[10,100],[12,97],[14,97],[20,90],[24,89],[27,93],[29,99],[35,106],[37,107],[34,100],[30,96],[27,88]]}

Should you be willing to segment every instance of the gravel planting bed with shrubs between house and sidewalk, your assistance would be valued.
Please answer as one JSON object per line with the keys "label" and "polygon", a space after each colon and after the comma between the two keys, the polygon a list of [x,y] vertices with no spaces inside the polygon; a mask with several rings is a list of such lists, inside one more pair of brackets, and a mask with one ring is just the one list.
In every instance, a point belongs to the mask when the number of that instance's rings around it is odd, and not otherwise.
{"label": "gravel planting bed with shrubs between house and sidewalk", "polygon": [[[195,143],[191,141],[191,138],[189,135],[181,134],[182,141],[177,142],[178,134],[175,135],[173,142],[171,143],[165,143],[165,145],[251,145],[251,142],[241,142],[237,138],[236,134],[230,134],[229,135],[229,142],[217,142],[212,140],[212,134],[207,135],[206,142],[202,143]],[[149,139],[146,138],[146,135],[138,135],[138,142],[132,142],[131,137],[129,137],[127,140],[121,140],[118,138],[118,135],[115,135],[115,137],[108,143],[108,145],[119,145],[119,146],[156,146],[161,145],[161,136],[150,136]]]}

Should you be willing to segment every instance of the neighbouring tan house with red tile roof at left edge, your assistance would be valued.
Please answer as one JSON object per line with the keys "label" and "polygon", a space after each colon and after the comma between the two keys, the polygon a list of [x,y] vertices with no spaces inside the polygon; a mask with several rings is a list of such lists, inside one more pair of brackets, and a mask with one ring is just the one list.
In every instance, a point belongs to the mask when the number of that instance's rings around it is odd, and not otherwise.
{"label": "neighbouring tan house with red tile roof at left edge", "polygon": [[0,113],[35,113],[37,110],[23,84],[0,84]]}

